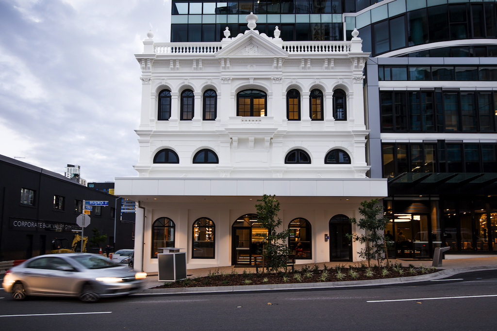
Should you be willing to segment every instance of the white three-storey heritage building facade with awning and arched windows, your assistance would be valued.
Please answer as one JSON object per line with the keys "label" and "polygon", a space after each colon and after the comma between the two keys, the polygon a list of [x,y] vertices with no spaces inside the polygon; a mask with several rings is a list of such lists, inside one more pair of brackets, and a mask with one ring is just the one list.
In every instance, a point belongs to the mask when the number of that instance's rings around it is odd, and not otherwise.
{"label": "white three-storey heritage building facade with awning and arched windows", "polygon": [[257,199],[276,195],[298,263],[357,261],[367,178],[363,68],[352,41],[285,42],[256,30],[218,43],[156,43],[144,53],[137,178],[115,194],[138,202],[135,268],[157,271],[161,247],[186,249],[187,268],[250,265],[259,257]]}

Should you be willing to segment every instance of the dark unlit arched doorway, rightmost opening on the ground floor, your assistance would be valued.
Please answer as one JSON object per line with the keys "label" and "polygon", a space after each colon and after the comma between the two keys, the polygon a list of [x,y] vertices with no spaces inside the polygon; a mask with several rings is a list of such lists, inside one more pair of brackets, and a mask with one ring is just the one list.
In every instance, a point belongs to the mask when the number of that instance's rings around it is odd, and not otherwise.
{"label": "dark unlit arched doorway, rightmost opening on the ground floor", "polygon": [[330,261],[352,261],[352,243],[347,234],[352,233],[350,219],[342,214],[330,219]]}

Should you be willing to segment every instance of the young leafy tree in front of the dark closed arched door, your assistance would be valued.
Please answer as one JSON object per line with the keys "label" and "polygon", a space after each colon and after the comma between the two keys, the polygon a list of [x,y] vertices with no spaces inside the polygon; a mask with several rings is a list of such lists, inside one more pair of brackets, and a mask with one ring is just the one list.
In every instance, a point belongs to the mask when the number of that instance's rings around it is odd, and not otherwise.
{"label": "young leafy tree in front of the dark closed arched door", "polygon": [[378,199],[371,201],[362,201],[359,207],[359,214],[363,217],[360,220],[351,218],[350,221],[357,225],[359,229],[365,230],[362,235],[348,234],[349,239],[366,244],[366,247],[358,253],[361,258],[368,260],[368,266],[371,259],[381,261],[388,259],[385,245],[385,228],[388,218],[383,216],[383,206],[378,204]]}

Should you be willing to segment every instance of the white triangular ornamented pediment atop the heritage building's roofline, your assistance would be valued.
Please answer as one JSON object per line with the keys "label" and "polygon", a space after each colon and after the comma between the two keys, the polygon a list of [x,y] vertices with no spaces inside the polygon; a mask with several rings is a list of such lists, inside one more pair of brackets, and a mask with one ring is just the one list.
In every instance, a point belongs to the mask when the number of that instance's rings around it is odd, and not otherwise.
{"label": "white triangular ornamented pediment atop the heritage building's roofline", "polygon": [[240,34],[235,38],[231,38],[224,46],[216,53],[217,58],[232,58],[232,57],[284,57],[288,53],[281,47],[278,47],[272,42],[273,38],[267,37],[265,34],[260,35],[258,31],[248,30],[245,34]]}

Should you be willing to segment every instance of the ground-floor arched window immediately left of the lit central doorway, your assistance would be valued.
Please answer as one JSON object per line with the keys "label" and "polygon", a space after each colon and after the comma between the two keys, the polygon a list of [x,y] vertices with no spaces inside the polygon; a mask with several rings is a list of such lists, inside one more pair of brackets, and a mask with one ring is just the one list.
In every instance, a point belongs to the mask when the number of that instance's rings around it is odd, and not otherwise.
{"label": "ground-floor arched window immediately left of the lit central doorway", "polygon": [[199,218],[193,223],[192,259],[214,259],[214,222],[208,218]]}

